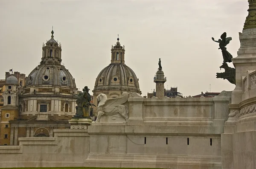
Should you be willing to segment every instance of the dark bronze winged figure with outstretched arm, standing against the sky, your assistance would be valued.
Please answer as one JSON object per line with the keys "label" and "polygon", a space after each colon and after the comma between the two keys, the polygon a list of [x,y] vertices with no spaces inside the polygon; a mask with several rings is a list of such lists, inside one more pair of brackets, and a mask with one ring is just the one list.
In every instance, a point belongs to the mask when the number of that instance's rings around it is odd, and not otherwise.
{"label": "dark bronze winged figure with outstretched arm, standing against the sky", "polygon": [[232,40],[232,37],[227,37],[227,33],[224,32],[221,35],[221,39],[218,39],[217,41],[217,40],[214,40],[214,38],[212,37],[212,40],[214,42],[219,43],[218,49],[221,49],[222,56],[223,56],[223,63],[232,62],[233,56],[227,51],[227,48],[226,48],[227,44],[229,44],[230,40]]}

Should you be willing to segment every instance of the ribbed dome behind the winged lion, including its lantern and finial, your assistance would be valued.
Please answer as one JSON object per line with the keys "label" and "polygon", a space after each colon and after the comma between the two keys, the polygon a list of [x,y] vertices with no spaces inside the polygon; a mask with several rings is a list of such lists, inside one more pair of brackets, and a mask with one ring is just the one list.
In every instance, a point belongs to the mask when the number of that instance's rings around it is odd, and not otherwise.
{"label": "ribbed dome behind the winged lion, including its lantern and finial", "polygon": [[[134,71],[125,65],[125,46],[121,46],[119,38],[111,49],[111,64],[97,76],[93,92],[111,93],[134,91],[141,94],[139,79]],[[118,92],[119,91],[119,92]],[[119,94],[120,96],[120,94]]]}

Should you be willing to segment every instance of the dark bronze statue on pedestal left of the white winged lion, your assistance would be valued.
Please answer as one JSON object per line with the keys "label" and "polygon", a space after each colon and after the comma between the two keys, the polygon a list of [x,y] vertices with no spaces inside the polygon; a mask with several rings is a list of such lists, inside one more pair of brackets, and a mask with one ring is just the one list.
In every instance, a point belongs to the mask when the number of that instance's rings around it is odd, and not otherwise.
{"label": "dark bronze statue on pedestal left of the white winged lion", "polygon": [[79,93],[78,99],[76,100],[76,115],[73,118],[89,118],[90,119],[90,106],[95,106],[91,104],[91,97],[89,94],[89,90],[87,86],[83,88],[83,92]]}

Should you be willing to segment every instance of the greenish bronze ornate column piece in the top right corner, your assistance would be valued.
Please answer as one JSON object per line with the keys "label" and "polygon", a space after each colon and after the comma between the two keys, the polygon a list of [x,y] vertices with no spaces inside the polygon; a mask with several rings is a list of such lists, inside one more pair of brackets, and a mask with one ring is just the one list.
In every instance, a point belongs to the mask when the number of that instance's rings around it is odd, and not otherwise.
{"label": "greenish bronze ornate column piece in the top right corner", "polygon": [[248,0],[248,16],[244,22],[244,29],[256,28],[256,0]]}

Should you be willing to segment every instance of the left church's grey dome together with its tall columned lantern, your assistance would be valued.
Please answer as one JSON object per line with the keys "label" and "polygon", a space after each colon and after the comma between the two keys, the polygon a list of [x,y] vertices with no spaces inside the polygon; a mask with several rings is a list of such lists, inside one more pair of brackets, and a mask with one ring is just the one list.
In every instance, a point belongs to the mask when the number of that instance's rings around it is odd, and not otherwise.
{"label": "left church's grey dome together with its tall columned lantern", "polygon": [[54,32],[46,44],[43,44],[43,53],[40,65],[38,65],[26,80],[28,85],[55,85],[76,88],[75,79],[71,73],[61,64],[61,44],[53,38]]}

